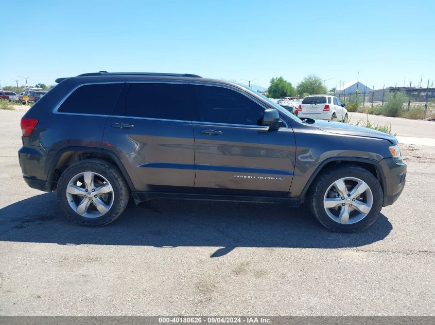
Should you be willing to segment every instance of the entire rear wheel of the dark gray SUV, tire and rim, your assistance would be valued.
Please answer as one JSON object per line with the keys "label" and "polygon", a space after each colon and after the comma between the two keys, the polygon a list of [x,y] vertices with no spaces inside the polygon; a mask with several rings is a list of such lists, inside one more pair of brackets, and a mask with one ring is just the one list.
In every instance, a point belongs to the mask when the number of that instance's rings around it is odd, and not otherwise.
{"label": "entire rear wheel of the dark gray SUV, tire and rim", "polygon": [[102,226],[123,213],[129,189],[116,166],[89,159],[64,171],[58,182],[57,198],[67,218],[81,225]]}

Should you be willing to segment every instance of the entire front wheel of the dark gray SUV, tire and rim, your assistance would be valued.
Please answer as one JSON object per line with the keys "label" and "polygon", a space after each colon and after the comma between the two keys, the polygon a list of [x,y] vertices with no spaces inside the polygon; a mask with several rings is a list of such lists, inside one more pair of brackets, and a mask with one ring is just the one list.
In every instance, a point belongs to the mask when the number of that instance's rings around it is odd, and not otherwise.
{"label": "entire front wheel of the dark gray SUV, tire and rim", "polygon": [[312,214],[326,228],[357,232],[370,226],[382,207],[379,181],[356,165],[330,169],[316,178],[310,191]]}

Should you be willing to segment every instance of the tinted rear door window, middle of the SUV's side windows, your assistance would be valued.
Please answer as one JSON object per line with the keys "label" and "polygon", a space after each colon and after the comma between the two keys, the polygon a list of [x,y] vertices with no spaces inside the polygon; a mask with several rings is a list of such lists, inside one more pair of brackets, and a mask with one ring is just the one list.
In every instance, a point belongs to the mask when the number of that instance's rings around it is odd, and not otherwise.
{"label": "tinted rear door window, middle of the SUV's side windows", "polygon": [[127,93],[127,116],[192,121],[191,112],[188,85],[132,83]]}

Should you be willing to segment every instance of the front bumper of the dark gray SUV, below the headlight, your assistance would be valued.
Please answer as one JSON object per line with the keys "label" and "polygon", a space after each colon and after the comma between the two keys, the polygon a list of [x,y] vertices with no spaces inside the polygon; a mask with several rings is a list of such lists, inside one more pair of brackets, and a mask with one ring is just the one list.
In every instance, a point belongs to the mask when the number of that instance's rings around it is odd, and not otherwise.
{"label": "front bumper of the dark gray SUV, below the headlight", "polygon": [[393,204],[402,194],[406,183],[406,164],[402,160],[386,158],[380,161],[384,171],[384,204],[388,206]]}

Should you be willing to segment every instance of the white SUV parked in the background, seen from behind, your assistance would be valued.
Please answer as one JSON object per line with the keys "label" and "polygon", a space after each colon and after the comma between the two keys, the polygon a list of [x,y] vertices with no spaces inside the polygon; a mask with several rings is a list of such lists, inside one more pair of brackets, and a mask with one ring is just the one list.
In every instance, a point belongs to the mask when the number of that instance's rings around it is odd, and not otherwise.
{"label": "white SUV parked in the background, seen from behind", "polygon": [[302,100],[298,107],[298,117],[347,121],[346,104],[342,104],[337,97],[329,95],[310,95]]}

